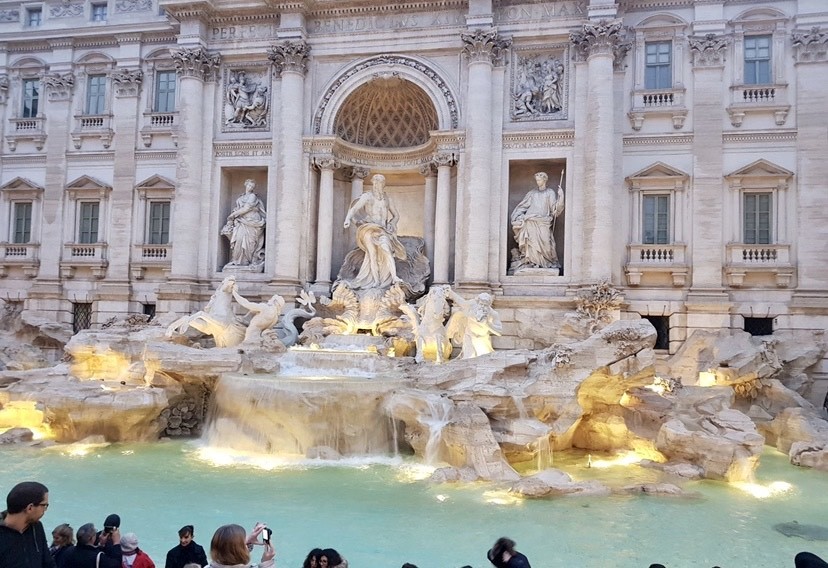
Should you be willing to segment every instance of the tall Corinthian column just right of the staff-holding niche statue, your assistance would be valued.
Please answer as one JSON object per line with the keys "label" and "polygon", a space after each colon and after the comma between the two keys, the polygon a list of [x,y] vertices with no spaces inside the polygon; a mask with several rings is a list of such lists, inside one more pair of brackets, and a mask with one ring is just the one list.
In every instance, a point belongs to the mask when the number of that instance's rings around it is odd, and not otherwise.
{"label": "tall Corinthian column just right of the staff-holding niche statue", "polygon": [[[583,218],[583,275],[589,281],[611,280],[616,272],[613,240],[616,215],[613,199],[615,143],[613,132],[613,59],[623,58],[628,44],[621,41],[621,22],[587,23],[570,35],[572,43],[587,59],[587,100],[589,109],[584,138],[584,184],[581,203]],[[619,268],[620,270],[620,264]]]}

